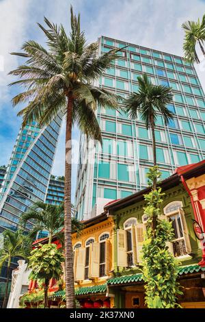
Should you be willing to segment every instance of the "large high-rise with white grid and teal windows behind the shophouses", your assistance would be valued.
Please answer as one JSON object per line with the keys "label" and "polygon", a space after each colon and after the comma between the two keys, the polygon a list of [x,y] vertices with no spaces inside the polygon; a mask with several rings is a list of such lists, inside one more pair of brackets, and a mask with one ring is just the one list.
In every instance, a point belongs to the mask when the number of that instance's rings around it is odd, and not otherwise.
{"label": "large high-rise with white grid and teal windows behind the shophouses", "polygon": [[[158,113],[155,131],[156,158],[165,179],[177,166],[205,157],[204,91],[194,66],[178,55],[103,36],[98,39],[99,55],[124,46],[119,59],[98,79],[98,86],[126,97],[137,92],[137,77],[146,73],[152,84],[172,87],[174,102],[168,108],[175,114],[174,121],[165,126]],[[102,147],[92,145],[87,158],[86,140],[81,136],[80,141],[78,219],[93,216],[103,199],[120,199],[145,188],[146,173],[153,164],[151,133],[140,115],[131,119],[123,110],[98,106],[97,116]]]}

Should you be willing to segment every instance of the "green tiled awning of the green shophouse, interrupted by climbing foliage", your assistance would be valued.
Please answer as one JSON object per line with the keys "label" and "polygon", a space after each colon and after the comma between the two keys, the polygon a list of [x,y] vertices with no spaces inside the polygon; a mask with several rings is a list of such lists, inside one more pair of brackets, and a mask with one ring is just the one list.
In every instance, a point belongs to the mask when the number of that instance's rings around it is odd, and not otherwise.
{"label": "green tiled awning of the green shophouse, interrupted by climbing foliage", "polygon": [[[180,267],[178,274],[183,275],[183,274],[194,273],[199,271],[205,271],[205,267],[200,267],[199,265],[195,264],[195,265]],[[107,284],[108,285],[128,284],[131,282],[141,282],[142,280],[143,280],[142,274],[138,273],[135,275],[122,275],[119,277],[112,277],[110,280],[107,281]]]}

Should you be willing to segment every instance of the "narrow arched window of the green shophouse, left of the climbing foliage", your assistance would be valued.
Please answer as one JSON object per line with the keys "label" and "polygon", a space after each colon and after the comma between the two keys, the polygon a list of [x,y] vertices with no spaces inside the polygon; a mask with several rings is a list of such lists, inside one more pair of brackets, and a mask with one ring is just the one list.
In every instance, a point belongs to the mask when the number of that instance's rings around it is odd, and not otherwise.
{"label": "narrow arched window of the green shophouse, left of the climbing foliage", "polygon": [[126,252],[127,252],[127,266],[132,267],[134,264],[133,259],[133,230],[132,227],[137,224],[137,219],[128,219],[124,223],[124,230],[126,230]]}

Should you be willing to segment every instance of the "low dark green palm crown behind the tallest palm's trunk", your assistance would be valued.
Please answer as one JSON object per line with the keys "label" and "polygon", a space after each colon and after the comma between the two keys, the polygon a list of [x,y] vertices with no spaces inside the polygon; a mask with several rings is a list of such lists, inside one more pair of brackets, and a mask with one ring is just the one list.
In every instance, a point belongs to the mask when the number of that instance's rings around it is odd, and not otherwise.
{"label": "low dark green palm crown behind the tallest palm's trunk", "polygon": [[[72,215],[74,214],[74,206],[72,205]],[[33,222],[32,230],[29,232],[31,239],[36,238],[38,232],[46,230],[49,232],[49,244],[51,244],[53,236],[62,239],[62,230],[64,228],[64,203],[59,206],[50,205],[43,201],[33,203],[31,210],[25,212],[21,216],[22,225],[26,225],[28,221]],[[72,232],[80,233],[83,224],[72,216]]]}

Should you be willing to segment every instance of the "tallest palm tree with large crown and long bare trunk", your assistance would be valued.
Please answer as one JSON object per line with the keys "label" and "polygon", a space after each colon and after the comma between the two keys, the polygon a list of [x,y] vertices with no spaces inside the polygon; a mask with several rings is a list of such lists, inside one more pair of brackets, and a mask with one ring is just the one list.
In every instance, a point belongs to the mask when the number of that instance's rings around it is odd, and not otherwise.
{"label": "tallest palm tree with large crown and long bare trunk", "polygon": [[18,113],[23,116],[23,126],[33,120],[47,125],[57,114],[63,112],[66,115],[64,236],[67,308],[74,307],[70,197],[72,125],[77,123],[86,136],[101,141],[96,106],[100,104],[116,108],[120,99],[114,93],[94,86],[94,81],[118,58],[120,49],[113,49],[98,57],[98,44],[87,45],[85,34],[81,32],[80,16],[73,14],[72,7],[70,14],[69,36],[62,25],[57,26],[44,18],[46,27],[38,25],[47,38],[48,50],[33,40],[25,42],[23,53],[13,54],[27,61],[10,72],[20,77],[12,85],[25,87],[25,92],[13,98],[14,106],[28,101],[27,107]]}

